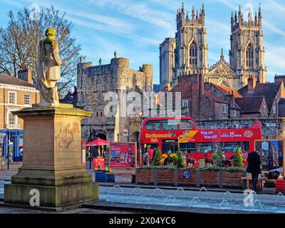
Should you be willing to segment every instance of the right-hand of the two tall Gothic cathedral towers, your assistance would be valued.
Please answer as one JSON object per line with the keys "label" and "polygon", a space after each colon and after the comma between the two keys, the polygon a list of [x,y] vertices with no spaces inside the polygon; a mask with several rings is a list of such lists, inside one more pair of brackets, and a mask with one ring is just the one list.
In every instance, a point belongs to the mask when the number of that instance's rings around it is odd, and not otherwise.
{"label": "right-hand of the two tall Gothic cathedral towers", "polygon": [[239,13],[232,12],[231,18],[231,50],[229,63],[239,75],[239,87],[247,84],[247,78],[254,75],[260,83],[266,82],[266,66],[264,62],[263,33],[261,26],[261,8],[255,13],[254,19],[249,10],[248,21],[244,20],[241,6]]}

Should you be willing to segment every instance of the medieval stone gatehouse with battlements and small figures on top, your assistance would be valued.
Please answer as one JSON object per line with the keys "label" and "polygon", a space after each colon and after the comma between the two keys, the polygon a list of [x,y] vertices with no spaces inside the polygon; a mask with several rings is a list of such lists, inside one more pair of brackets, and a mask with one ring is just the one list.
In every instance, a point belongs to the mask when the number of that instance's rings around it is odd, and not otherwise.
{"label": "medieval stone gatehouse with battlements and small figures on top", "polygon": [[[120,113],[125,97],[131,91],[140,93],[153,90],[152,66],[143,64],[139,71],[129,68],[128,58],[113,58],[110,64],[92,66],[92,63],[79,63],[77,70],[78,107],[92,111],[90,118],[83,120],[82,134],[84,138],[93,134],[93,137],[105,137],[109,141],[126,141],[123,129],[130,130],[129,134],[135,138],[139,131],[138,123],[130,121],[131,117]],[[110,100],[104,100],[108,92],[118,95],[116,107],[105,110]],[[138,108],[137,108],[138,109]],[[137,121],[138,122],[138,121]],[[130,138],[129,138],[130,139]]]}

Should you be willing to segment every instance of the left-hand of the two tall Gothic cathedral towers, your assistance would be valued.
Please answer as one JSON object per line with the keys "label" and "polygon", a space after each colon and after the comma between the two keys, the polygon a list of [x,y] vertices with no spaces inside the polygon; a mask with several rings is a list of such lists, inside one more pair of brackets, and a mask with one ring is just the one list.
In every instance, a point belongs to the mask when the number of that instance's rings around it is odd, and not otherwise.
{"label": "left-hand of the two tall Gothic cathedral towers", "polygon": [[188,12],[185,15],[184,4],[182,4],[182,9],[177,10],[174,86],[180,75],[197,72],[197,70],[207,73],[208,46],[204,21],[204,4],[202,9],[196,12],[193,6],[191,18]]}

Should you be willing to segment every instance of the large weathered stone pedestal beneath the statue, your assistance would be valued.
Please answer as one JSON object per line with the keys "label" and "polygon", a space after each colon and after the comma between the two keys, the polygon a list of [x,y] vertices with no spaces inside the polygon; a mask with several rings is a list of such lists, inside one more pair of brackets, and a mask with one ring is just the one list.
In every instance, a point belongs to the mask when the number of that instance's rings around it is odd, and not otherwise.
{"label": "large weathered stone pedestal beneath the statue", "polygon": [[4,202],[67,207],[98,199],[98,183],[82,165],[81,120],[90,112],[72,105],[24,108],[23,165],[4,186]]}

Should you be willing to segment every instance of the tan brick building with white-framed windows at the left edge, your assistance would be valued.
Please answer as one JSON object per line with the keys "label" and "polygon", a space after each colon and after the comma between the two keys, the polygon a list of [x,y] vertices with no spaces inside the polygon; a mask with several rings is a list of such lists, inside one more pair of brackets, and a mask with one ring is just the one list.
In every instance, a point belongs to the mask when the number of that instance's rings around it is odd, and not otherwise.
{"label": "tan brick building with white-framed windows at the left edge", "polygon": [[31,107],[39,99],[29,67],[19,71],[18,78],[0,74],[0,129],[23,129],[23,120],[11,112]]}

